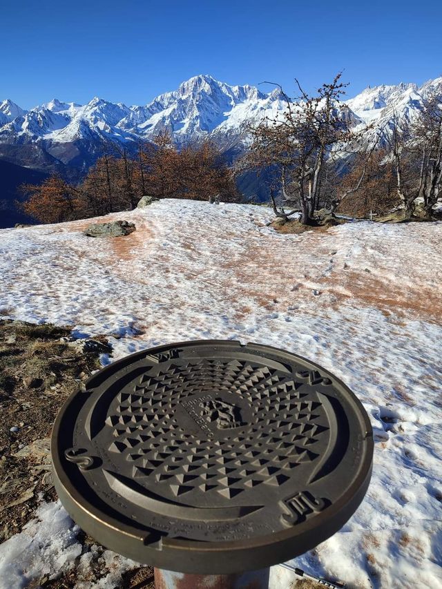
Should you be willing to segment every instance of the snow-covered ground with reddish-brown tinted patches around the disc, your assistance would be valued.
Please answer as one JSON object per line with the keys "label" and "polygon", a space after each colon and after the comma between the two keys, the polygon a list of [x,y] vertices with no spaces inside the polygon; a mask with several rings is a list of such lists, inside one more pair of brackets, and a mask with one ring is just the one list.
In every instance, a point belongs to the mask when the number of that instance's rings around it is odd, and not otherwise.
{"label": "snow-covered ground with reddish-brown tinted patches around the disc", "polygon": [[[103,363],[206,338],[315,360],[363,401],[374,472],[352,519],[294,564],[360,588],[442,588],[442,224],[282,235],[266,226],[271,217],[258,206],[163,200],[108,215],[135,222],[124,238],[87,238],[83,221],[3,229],[0,313],[106,334],[114,354]],[[57,503],[41,505],[0,545],[0,587],[71,566],[76,533]],[[16,585],[2,585],[8,578]],[[274,568],[272,579],[283,589],[294,575]]]}

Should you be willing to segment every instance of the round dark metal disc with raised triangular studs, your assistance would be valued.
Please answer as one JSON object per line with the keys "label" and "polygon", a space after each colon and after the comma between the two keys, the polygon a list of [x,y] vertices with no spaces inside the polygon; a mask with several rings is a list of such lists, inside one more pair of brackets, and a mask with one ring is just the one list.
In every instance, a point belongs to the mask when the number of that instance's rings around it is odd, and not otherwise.
{"label": "round dark metal disc with raised triangular studs", "polygon": [[184,342],[127,356],[70,396],[52,433],[73,519],[135,561],[264,568],[339,530],[372,469],[354,394],[286,351]]}

